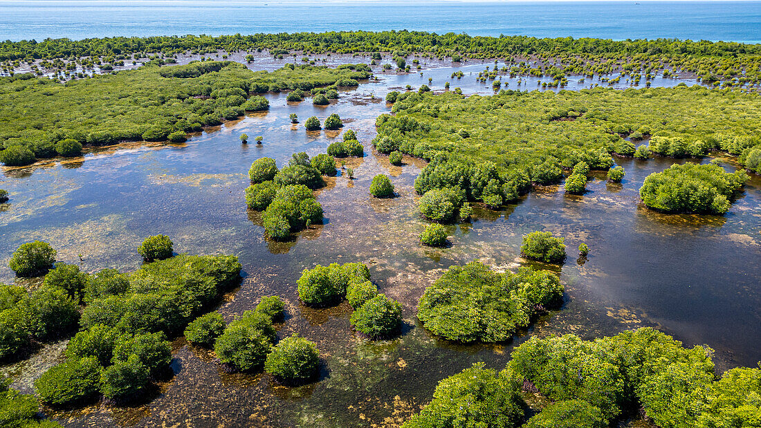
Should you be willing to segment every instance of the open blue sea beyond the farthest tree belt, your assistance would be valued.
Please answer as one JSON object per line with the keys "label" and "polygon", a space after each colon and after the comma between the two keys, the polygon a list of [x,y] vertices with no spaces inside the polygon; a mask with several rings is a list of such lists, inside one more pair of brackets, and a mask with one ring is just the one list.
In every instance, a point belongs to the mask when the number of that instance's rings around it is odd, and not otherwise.
{"label": "open blue sea beyond the farthest tree belt", "polygon": [[761,42],[761,2],[0,2],[0,40],[425,30]]}

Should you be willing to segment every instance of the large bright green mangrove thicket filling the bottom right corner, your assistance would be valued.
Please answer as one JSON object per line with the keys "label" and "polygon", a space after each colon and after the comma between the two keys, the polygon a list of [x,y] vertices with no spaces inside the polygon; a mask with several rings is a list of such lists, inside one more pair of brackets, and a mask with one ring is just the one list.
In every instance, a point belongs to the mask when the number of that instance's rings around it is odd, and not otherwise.
{"label": "large bright green mangrove thicket filling the bottom right corner", "polygon": [[[625,412],[664,428],[756,426],[761,369],[728,370],[716,380],[712,350],[640,328],[583,341],[575,334],[530,338],[504,370],[476,364],[442,380],[406,428],[452,426],[607,426]],[[524,412],[524,398],[551,404]],[[535,400],[533,402],[536,402]]]}

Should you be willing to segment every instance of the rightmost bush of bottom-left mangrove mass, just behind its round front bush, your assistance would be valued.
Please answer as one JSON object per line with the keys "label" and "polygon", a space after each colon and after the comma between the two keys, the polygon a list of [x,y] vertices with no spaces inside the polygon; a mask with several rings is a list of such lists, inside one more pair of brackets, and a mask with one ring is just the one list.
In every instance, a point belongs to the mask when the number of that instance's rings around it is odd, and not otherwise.
{"label": "rightmost bush of bottom-left mangrove mass, just behind its round front bush", "polygon": [[136,355],[148,373],[156,376],[168,369],[172,360],[172,349],[166,339],[161,331],[119,338],[113,348],[113,363],[128,363]]}

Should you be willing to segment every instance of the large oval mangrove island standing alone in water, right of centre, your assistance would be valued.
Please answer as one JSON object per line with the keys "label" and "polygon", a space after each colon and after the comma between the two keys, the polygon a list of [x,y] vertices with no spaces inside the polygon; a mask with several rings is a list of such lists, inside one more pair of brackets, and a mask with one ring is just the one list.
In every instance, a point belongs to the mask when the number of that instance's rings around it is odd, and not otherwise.
{"label": "large oval mangrove island standing alone in water, right of centre", "polygon": [[537,305],[557,302],[563,287],[556,275],[524,268],[501,275],[480,262],[453,266],[425,289],[418,319],[425,328],[459,342],[507,341],[529,325]]}

